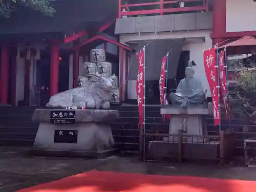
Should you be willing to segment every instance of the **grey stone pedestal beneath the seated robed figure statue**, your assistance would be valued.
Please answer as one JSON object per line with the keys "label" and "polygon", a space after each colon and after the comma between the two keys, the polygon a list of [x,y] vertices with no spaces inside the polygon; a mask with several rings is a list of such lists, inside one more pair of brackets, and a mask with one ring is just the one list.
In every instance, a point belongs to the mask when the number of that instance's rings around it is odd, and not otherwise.
{"label": "grey stone pedestal beneath the seated robed figure statue", "polygon": [[[161,114],[171,115],[169,134],[177,135],[178,130],[183,130],[183,135],[195,135],[195,137],[183,137],[183,142],[207,142],[206,138],[196,137],[208,135],[205,119],[205,117],[209,114],[207,105],[200,104],[188,106],[187,109],[182,109],[172,105],[162,105]],[[178,142],[178,137],[170,136],[169,138],[164,138],[164,141]]]}

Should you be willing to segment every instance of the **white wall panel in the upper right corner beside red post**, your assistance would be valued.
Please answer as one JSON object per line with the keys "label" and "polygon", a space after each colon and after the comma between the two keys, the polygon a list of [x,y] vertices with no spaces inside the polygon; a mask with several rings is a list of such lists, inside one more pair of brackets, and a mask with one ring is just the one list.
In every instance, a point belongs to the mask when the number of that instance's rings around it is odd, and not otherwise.
{"label": "white wall panel in the upper right corner beside red post", "polygon": [[256,30],[256,2],[253,0],[226,0],[226,32]]}

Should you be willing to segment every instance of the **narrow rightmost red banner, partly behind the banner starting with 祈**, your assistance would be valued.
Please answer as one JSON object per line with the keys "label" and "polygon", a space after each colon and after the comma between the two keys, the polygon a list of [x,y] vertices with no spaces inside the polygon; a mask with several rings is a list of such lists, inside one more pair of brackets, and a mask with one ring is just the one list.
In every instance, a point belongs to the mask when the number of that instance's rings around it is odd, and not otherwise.
{"label": "narrow rightmost red banner, partly behind the banner starting with \u7948", "polygon": [[226,76],[226,51],[222,51],[219,53],[219,75],[220,75],[220,87],[221,87],[221,102],[223,101],[223,104],[225,106],[225,112],[227,117],[229,117],[229,106],[228,103],[225,100],[225,97],[227,95],[227,76]]}

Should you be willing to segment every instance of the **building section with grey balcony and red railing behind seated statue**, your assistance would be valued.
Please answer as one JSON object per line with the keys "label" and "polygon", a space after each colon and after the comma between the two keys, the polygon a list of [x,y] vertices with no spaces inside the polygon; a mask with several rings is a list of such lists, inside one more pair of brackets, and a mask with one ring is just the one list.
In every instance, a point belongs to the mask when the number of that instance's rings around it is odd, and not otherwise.
{"label": "building section with grey balcony and red railing behind seated statue", "polygon": [[[210,97],[203,51],[243,36],[255,36],[256,28],[251,25],[255,20],[255,8],[256,3],[252,0],[119,1],[119,18],[115,26],[119,42],[136,51],[146,45],[146,104],[159,104],[160,62],[167,51],[170,51],[168,90],[176,89],[184,78],[188,60],[194,60],[197,65],[195,76],[202,81],[206,95]],[[229,54],[236,54],[236,51]],[[125,68],[129,72],[123,73],[127,80],[127,99],[134,101],[137,98],[136,62],[135,55],[131,54]],[[230,62],[228,69],[229,65]]]}

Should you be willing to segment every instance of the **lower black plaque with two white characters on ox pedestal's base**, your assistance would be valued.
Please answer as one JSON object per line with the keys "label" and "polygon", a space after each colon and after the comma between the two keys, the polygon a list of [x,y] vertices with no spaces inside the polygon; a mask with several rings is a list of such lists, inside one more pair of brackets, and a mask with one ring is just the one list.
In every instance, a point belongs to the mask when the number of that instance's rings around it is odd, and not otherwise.
{"label": "lower black plaque with two white characters on ox pedestal's base", "polygon": [[55,130],[54,143],[77,143],[77,130]]}

